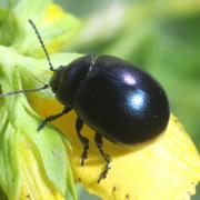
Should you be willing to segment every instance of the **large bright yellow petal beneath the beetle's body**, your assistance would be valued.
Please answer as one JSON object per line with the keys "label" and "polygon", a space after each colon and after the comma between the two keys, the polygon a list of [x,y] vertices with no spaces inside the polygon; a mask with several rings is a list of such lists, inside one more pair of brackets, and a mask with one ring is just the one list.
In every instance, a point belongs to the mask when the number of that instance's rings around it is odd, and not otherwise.
{"label": "large bright yellow petal beneath the beetle's body", "polygon": [[[41,116],[61,110],[53,100],[31,96],[30,101]],[[87,126],[83,134],[90,139],[89,156],[80,166],[82,146],[74,130],[76,114],[70,112],[54,124],[72,142],[69,151],[74,178],[92,193],[103,199],[183,200],[196,192],[200,180],[200,158],[177,118],[171,116],[167,131],[153,141],[123,148],[104,139],[104,150],[112,157],[108,177],[97,183],[104,161],[93,142],[93,131]]]}

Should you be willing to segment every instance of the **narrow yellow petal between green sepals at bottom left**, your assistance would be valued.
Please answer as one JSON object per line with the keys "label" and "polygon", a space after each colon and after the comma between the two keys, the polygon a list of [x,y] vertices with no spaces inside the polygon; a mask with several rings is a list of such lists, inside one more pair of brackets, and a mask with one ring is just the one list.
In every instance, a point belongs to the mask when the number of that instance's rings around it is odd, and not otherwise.
{"label": "narrow yellow petal between green sepals at bottom left", "polygon": [[34,152],[36,149],[26,137],[20,136],[19,151],[22,168],[20,199],[63,200],[64,198],[46,178],[40,159]]}

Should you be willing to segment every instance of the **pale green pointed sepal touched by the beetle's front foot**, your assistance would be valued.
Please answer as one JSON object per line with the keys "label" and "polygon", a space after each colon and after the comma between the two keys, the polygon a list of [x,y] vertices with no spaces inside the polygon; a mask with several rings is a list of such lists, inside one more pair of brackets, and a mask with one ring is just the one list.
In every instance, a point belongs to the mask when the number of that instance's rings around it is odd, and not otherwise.
{"label": "pale green pointed sepal touched by the beetle's front foot", "polygon": [[[18,70],[10,67],[4,70],[4,74],[7,72],[9,72],[7,76],[11,76],[10,80],[12,80],[10,90],[20,90],[21,84]],[[58,131],[47,126],[42,133],[38,133],[37,126],[41,122],[41,119],[39,120],[39,117],[37,117],[29,107],[24,96],[7,98],[3,108],[6,108],[9,116],[9,118],[6,118],[7,121],[13,126],[12,136],[9,136],[9,139],[13,140],[18,132],[23,136],[27,134],[36,147],[39,161],[43,163],[47,178],[56,189],[64,194],[67,190],[67,154]],[[7,132],[2,130],[2,133]],[[2,142],[6,143],[4,140],[2,140]],[[17,146],[18,142],[16,140],[14,142]],[[10,149],[12,149],[14,153],[18,151],[18,149],[14,148]]]}

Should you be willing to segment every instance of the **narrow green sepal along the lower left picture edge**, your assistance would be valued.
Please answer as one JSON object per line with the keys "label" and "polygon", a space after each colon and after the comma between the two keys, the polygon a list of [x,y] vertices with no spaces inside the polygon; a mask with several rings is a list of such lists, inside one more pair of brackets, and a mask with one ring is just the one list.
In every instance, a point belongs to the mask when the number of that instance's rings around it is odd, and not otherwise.
{"label": "narrow green sepal along the lower left picture edge", "polygon": [[20,164],[17,151],[18,134],[9,121],[9,113],[0,100],[0,188],[12,200],[19,193]]}

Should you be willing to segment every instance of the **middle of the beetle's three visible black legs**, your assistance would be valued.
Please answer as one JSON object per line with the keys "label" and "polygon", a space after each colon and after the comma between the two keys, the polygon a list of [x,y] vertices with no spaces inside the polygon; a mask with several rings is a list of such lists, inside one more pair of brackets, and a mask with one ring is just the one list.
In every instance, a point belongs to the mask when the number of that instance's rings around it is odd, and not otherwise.
{"label": "middle of the beetle's three visible black legs", "polygon": [[84,160],[87,159],[88,157],[88,150],[89,150],[89,140],[88,138],[83,137],[80,131],[82,129],[82,126],[83,126],[83,121],[80,119],[80,118],[77,118],[77,121],[76,121],[76,130],[77,130],[77,134],[81,141],[81,143],[83,144],[83,152],[82,152],[82,156],[81,156],[81,166],[84,164]]}

